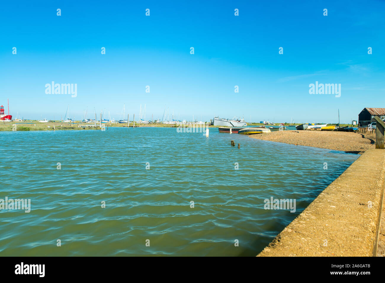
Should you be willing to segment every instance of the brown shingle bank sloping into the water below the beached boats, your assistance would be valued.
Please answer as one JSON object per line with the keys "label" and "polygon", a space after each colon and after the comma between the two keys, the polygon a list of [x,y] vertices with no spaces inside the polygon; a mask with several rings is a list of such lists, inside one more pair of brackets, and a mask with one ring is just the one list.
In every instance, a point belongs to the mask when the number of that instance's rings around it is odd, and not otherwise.
{"label": "brown shingle bank sloping into the water below the beached boats", "polygon": [[259,140],[277,141],[291,145],[305,145],[349,153],[362,154],[370,148],[375,148],[375,137],[353,132],[334,131],[276,131],[251,138]]}

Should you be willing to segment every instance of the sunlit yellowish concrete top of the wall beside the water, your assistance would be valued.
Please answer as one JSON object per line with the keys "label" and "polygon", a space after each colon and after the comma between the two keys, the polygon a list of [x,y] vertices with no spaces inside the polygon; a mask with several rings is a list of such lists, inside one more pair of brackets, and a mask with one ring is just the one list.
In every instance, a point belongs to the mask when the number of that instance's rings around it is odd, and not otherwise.
{"label": "sunlit yellowish concrete top of the wall beside the water", "polygon": [[258,256],[376,256],[384,177],[385,150],[367,150]]}

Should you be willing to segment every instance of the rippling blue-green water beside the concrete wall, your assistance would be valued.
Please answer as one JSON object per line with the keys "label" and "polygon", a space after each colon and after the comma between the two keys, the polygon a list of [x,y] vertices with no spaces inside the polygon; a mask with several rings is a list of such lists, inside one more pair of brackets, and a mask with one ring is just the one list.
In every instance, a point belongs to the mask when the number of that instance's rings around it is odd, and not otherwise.
{"label": "rippling blue-green water beside the concrete wall", "polygon": [[0,210],[0,256],[255,256],[358,158],[217,129],[0,132],[0,148],[0,198],[31,199]]}

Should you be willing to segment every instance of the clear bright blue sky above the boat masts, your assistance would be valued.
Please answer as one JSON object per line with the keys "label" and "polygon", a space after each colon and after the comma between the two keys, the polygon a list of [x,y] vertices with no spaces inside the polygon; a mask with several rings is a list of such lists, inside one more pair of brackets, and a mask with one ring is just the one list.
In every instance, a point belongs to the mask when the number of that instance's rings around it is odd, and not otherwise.
{"label": "clear bright blue sky above the boat masts", "polygon": [[[9,98],[14,117],[60,119],[69,105],[71,118],[87,108],[90,118],[95,108],[119,119],[125,103],[130,120],[146,104],[147,119],[162,118],[168,107],[186,120],[330,123],[340,109],[342,123],[357,120],[364,107],[385,108],[384,1],[1,6],[0,104]],[[46,94],[52,81],[77,83],[77,97]],[[316,81],[340,83],[341,97],[309,94]]]}

